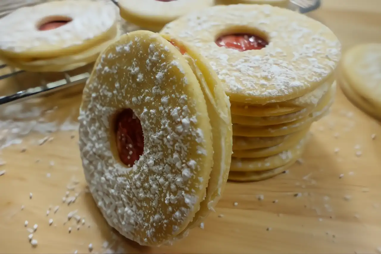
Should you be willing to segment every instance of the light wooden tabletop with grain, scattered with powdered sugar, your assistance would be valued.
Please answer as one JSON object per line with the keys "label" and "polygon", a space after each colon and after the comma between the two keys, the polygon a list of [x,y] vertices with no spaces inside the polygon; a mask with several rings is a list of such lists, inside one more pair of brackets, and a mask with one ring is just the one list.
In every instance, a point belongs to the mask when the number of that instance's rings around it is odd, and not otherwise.
{"label": "light wooden tabletop with grain, scattered with powdered sugar", "polygon": [[[381,0],[323,0],[310,15],[338,35],[344,50],[381,43]],[[32,79],[22,80],[32,85]],[[0,80],[0,93],[19,86]],[[25,102],[23,110],[38,106],[49,121],[73,122],[81,88]],[[6,114],[0,122],[13,117]],[[90,243],[93,253],[381,253],[381,124],[338,89],[330,115],[312,133],[303,160],[288,174],[228,183],[204,228],[160,248],[140,247],[107,226],[86,189],[75,130],[31,133],[0,154],[0,253],[88,253]],[[0,132],[0,139],[6,135]],[[45,137],[50,140],[39,145]],[[68,205],[63,197],[76,200]],[[73,211],[78,216],[68,220]],[[34,224],[33,248],[28,229]]]}

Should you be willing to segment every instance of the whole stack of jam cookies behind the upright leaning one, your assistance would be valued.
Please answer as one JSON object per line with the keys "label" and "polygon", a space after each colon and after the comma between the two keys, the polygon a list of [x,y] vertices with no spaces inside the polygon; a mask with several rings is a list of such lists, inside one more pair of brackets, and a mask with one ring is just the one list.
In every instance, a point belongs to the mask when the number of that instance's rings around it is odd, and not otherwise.
{"label": "whole stack of jam cookies behind the upright leaning one", "polygon": [[335,97],[341,53],[328,27],[279,7],[229,5],[179,18],[161,33],[196,47],[230,98],[229,179],[263,180],[301,157],[311,124]]}

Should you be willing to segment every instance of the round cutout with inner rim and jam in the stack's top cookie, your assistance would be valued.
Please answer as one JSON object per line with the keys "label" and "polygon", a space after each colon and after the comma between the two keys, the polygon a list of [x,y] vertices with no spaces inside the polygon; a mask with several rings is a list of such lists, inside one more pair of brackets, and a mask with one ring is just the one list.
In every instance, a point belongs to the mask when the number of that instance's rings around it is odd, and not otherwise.
{"label": "round cutout with inner rim and jam in the stack's top cookie", "polygon": [[263,32],[248,31],[245,28],[231,28],[221,33],[215,40],[215,43],[219,47],[243,52],[247,50],[261,50],[269,45],[269,40]]}

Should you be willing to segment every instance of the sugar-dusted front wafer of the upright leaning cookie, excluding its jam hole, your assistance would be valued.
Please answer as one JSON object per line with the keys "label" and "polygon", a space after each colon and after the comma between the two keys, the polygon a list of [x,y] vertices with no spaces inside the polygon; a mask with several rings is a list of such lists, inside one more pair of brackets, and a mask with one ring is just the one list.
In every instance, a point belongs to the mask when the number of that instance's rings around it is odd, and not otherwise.
{"label": "sugar-dusted front wafer of the upright leaning cookie, excluding its jam hole", "polygon": [[[164,243],[186,227],[211,170],[203,168],[211,163],[210,126],[202,127],[208,120],[200,113],[206,109],[188,96],[194,88],[186,66],[166,54],[163,42],[151,32],[132,32],[104,51],[78,118],[85,178],[98,207],[112,227],[142,245]],[[144,153],[132,168],[110,152],[110,119],[121,108],[133,109],[144,133]]]}

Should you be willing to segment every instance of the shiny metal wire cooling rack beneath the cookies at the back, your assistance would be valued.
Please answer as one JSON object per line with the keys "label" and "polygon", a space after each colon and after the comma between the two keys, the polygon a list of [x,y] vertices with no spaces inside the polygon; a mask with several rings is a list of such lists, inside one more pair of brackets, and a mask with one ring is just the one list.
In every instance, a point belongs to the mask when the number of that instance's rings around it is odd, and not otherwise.
{"label": "shiny metal wire cooling rack beneath the cookies at the back", "polygon": [[[110,1],[113,2],[116,6],[118,6],[118,0]],[[319,8],[321,0],[291,0],[290,2],[292,5],[290,6],[291,9],[300,13],[306,13]],[[7,68],[7,70],[9,69],[10,71],[0,76],[0,80],[16,77],[19,74],[25,72],[22,70],[10,68],[5,64],[0,64],[0,71],[5,68]],[[83,84],[90,76],[90,72],[85,72],[78,75],[70,75],[69,72],[63,72],[61,76],[63,76],[62,79],[56,80],[54,82],[42,82],[42,84],[40,84],[37,87],[21,90],[19,92],[7,96],[0,96],[0,105],[16,101],[19,102],[21,100],[26,100],[34,96],[41,96],[46,93],[56,92],[62,88]]]}

